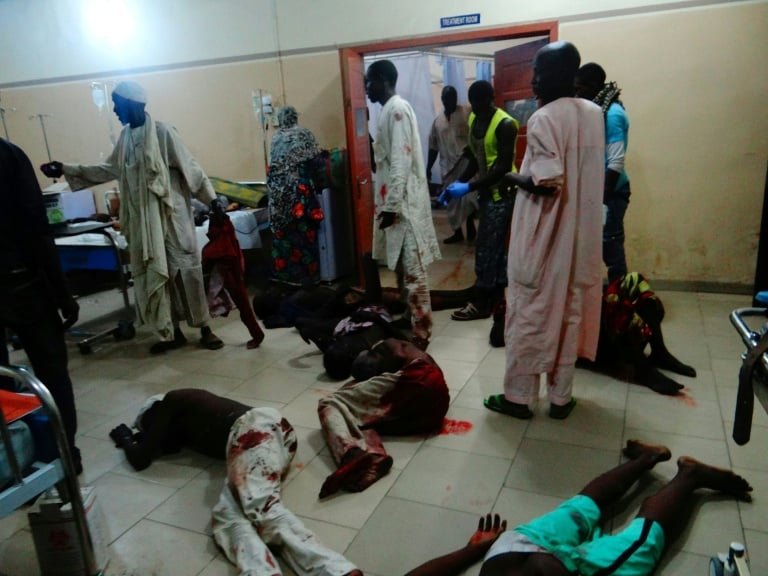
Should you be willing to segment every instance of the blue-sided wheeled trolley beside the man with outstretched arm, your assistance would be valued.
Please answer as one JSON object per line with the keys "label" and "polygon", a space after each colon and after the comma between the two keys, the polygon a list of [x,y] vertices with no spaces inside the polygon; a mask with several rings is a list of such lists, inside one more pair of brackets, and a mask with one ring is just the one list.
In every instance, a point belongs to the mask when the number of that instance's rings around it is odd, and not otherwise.
{"label": "blue-sided wheeled trolley beside the man with outstretched arm", "polygon": [[81,354],[93,352],[93,343],[112,336],[115,340],[130,340],[136,335],[134,310],[128,298],[128,263],[118,245],[118,235],[111,222],[83,222],[62,224],[53,228],[57,249],[65,272],[73,269],[101,269],[117,271],[123,308],[116,325],[95,331],[82,328],[71,333],[81,337],[77,347]]}

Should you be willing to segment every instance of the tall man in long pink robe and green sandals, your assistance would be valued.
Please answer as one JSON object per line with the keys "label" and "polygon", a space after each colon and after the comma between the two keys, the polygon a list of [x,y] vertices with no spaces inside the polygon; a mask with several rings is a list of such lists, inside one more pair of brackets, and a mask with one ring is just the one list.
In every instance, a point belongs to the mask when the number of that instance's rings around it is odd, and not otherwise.
{"label": "tall man in long pink robe and green sandals", "polygon": [[602,296],[605,134],[598,106],[573,98],[576,47],[554,42],[533,62],[539,109],[528,121],[508,257],[504,394],[487,408],[530,418],[547,375],[549,415],[563,419],[577,357],[593,359]]}

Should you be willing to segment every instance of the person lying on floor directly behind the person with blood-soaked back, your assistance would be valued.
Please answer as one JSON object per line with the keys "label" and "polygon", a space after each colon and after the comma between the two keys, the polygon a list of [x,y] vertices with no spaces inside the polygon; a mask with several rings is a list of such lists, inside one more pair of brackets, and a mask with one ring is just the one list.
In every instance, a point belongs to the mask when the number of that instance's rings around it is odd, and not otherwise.
{"label": "person lying on floor directly behind the person with blood-soaked back", "polygon": [[406,340],[386,308],[364,305],[344,318],[297,318],[296,328],[305,342],[313,342],[323,353],[329,377],[345,380],[352,373],[358,354],[384,338]]}

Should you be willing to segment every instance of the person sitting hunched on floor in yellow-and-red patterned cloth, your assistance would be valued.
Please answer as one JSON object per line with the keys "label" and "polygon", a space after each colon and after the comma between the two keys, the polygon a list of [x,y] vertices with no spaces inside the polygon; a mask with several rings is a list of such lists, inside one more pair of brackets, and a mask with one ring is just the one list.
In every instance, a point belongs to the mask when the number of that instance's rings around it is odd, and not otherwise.
{"label": "person sitting hunched on floor in yellow-and-red patterned cloth", "polygon": [[[623,372],[631,382],[659,394],[678,394],[683,385],[659,369],[691,378],[696,376],[696,370],[667,349],[661,329],[663,319],[664,305],[642,274],[630,272],[617,278],[603,293],[595,362],[580,361],[579,365],[610,373]],[[650,353],[646,355],[648,347]]]}

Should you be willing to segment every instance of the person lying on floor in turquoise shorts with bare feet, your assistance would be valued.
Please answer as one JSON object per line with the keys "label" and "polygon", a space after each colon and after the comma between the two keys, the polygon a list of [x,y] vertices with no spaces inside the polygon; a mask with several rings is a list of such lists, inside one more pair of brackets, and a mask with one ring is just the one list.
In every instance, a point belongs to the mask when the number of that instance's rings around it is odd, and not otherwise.
{"label": "person lying on floor in turquoise shorts with bare feet", "polygon": [[498,514],[488,514],[466,546],[406,576],[458,575],[481,559],[480,576],[647,576],[689,520],[696,490],[752,500],[752,487],[741,476],[682,456],[675,477],[645,499],[629,526],[617,534],[601,534],[605,511],[640,476],[671,457],[665,446],[637,440],[627,442],[624,455],[626,462],[592,480],[554,511],[512,530]]}

